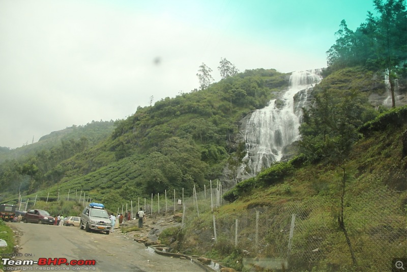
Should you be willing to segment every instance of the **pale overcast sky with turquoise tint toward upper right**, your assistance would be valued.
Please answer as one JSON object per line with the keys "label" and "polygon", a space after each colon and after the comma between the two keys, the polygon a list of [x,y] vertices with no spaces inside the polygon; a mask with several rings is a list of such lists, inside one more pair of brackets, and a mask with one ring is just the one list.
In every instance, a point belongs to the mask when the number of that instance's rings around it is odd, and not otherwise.
{"label": "pale overcast sky with turquoise tint toward upper right", "polygon": [[326,67],[345,19],[372,0],[1,0],[0,146],[72,125],[125,119],[199,87],[201,63],[240,71]]}

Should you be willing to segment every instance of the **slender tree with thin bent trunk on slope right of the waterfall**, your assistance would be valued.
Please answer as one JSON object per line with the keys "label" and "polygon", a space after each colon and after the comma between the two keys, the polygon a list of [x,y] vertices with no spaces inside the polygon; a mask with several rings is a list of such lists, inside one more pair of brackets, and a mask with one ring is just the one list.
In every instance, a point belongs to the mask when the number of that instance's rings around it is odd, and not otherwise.
{"label": "slender tree with thin bent trunk on slope right of the waterfall", "polygon": [[347,173],[346,160],[360,137],[358,128],[364,123],[369,107],[366,98],[358,91],[322,89],[315,95],[315,103],[310,110],[305,112],[304,123],[300,127],[300,149],[305,157],[311,162],[325,158],[342,170],[335,194],[339,198],[336,219],[355,267],[358,263],[344,216],[346,185],[352,180]]}

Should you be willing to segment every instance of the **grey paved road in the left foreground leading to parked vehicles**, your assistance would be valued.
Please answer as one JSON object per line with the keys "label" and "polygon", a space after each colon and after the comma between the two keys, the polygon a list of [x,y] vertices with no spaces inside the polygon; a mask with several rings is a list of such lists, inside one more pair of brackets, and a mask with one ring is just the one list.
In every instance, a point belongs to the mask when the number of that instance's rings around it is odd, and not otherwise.
{"label": "grey paved road in the left foreground leading to parked vehicles", "polygon": [[[122,235],[119,230],[106,235],[86,232],[77,227],[50,226],[24,223],[8,223],[21,232],[18,243],[22,256],[13,260],[39,258],[66,258],[72,260],[95,260],[95,265],[19,265],[22,270],[86,270],[91,271],[205,271],[189,260],[169,258],[155,254],[134,240]],[[32,257],[26,257],[32,255]],[[21,267],[22,266],[22,267]],[[33,267],[33,268],[31,268]],[[11,268],[11,267],[9,267]],[[18,268],[14,266],[13,268]],[[24,269],[25,268],[25,269]],[[5,271],[10,271],[5,270]]]}

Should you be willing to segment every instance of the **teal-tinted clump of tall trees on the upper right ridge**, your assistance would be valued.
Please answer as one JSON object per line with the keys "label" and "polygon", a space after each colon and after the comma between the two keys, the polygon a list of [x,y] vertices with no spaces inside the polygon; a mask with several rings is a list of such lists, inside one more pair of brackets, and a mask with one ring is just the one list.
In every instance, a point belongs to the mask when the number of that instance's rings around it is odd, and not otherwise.
{"label": "teal-tinted clump of tall trees on the upper right ridge", "polygon": [[365,65],[385,70],[389,75],[392,106],[395,107],[395,81],[405,77],[399,67],[407,57],[407,13],[405,0],[373,0],[379,16],[368,12],[366,22],[356,32],[345,20],[335,33],[338,39],[327,51],[328,68]]}

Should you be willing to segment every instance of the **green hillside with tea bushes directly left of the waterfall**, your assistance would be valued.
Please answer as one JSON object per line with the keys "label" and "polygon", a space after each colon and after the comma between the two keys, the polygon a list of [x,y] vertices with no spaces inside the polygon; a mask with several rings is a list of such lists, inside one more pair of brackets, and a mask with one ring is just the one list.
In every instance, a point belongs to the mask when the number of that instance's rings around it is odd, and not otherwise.
{"label": "green hillside with tea bushes directly left of the waterfall", "polygon": [[[42,168],[33,158],[25,175],[14,170],[15,176],[29,180],[25,194],[35,192],[42,198],[48,192],[55,196],[57,188],[65,187],[86,190],[107,204],[116,198],[111,187],[121,188],[123,200],[173,188],[185,188],[189,194],[193,184],[202,188],[219,177],[228,162],[236,164],[238,121],[265,106],[287,85],[287,75],[272,69],[239,73],[205,90],[139,107],[115,124],[108,139],[51,169]],[[46,181],[47,177],[51,179]]]}

